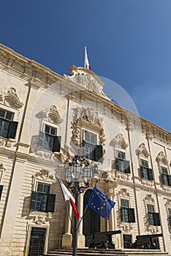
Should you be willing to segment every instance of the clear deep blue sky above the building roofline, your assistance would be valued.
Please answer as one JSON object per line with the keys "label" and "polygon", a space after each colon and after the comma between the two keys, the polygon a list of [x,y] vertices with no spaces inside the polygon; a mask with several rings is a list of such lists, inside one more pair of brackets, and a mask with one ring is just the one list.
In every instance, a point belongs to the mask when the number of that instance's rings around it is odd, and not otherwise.
{"label": "clear deep blue sky above the building roofline", "polygon": [[[84,64],[124,89],[145,119],[170,131],[170,0],[6,0],[0,42],[59,74]],[[105,89],[115,99],[115,88]]]}

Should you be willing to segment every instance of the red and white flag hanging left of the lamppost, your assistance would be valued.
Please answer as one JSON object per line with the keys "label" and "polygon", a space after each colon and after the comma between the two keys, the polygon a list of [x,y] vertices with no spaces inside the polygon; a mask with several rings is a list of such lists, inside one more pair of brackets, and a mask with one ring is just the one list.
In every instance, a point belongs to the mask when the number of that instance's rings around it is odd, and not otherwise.
{"label": "red and white flag hanging left of the lamppost", "polygon": [[64,183],[61,181],[60,178],[58,178],[58,182],[61,186],[61,190],[63,192],[63,195],[64,195],[64,199],[65,201],[69,201],[71,206],[72,206],[72,209],[74,211],[74,214],[75,214],[75,217],[77,218],[77,220],[79,220],[79,212],[77,211],[77,206],[75,204],[75,197],[73,197],[73,195],[69,192],[68,189],[66,189]]}

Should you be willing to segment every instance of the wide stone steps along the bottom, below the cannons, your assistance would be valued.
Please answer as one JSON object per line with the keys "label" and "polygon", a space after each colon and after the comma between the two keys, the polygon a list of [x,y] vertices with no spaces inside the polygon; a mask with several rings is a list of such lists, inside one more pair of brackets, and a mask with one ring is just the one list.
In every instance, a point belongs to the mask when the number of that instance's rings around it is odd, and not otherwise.
{"label": "wide stone steps along the bottom, below the cannons", "polygon": [[[161,252],[161,250],[148,249],[77,249],[77,256],[167,256],[168,252]],[[42,255],[40,255],[42,256]],[[43,256],[72,256],[72,249],[54,249]]]}

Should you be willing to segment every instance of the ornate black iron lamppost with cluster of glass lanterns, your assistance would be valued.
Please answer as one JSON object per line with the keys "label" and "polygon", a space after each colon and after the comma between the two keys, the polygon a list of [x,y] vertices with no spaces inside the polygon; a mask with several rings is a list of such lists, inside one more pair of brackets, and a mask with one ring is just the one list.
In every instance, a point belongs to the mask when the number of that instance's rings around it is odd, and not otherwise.
{"label": "ornate black iron lamppost with cluster of glass lanterns", "polygon": [[[84,158],[76,155],[72,162],[65,168],[65,179],[67,186],[72,189],[72,194],[75,195],[75,205],[78,206],[78,197],[83,193],[84,189],[88,188],[91,178],[94,173],[98,172],[97,165],[91,166]],[[74,222],[74,237],[72,256],[77,255],[77,218]]]}

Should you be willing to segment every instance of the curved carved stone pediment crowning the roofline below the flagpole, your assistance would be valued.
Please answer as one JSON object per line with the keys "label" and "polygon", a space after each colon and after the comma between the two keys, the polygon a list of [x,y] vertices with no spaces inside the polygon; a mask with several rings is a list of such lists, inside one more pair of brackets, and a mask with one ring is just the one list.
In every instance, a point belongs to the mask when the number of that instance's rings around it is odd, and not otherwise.
{"label": "curved carved stone pediment crowning the roofline below the flagpole", "polygon": [[90,69],[72,66],[69,70],[70,75],[64,75],[64,78],[77,83],[80,86],[80,89],[84,88],[88,91],[93,91],[104,98],[110,99],[102,91],[104,83]]}

